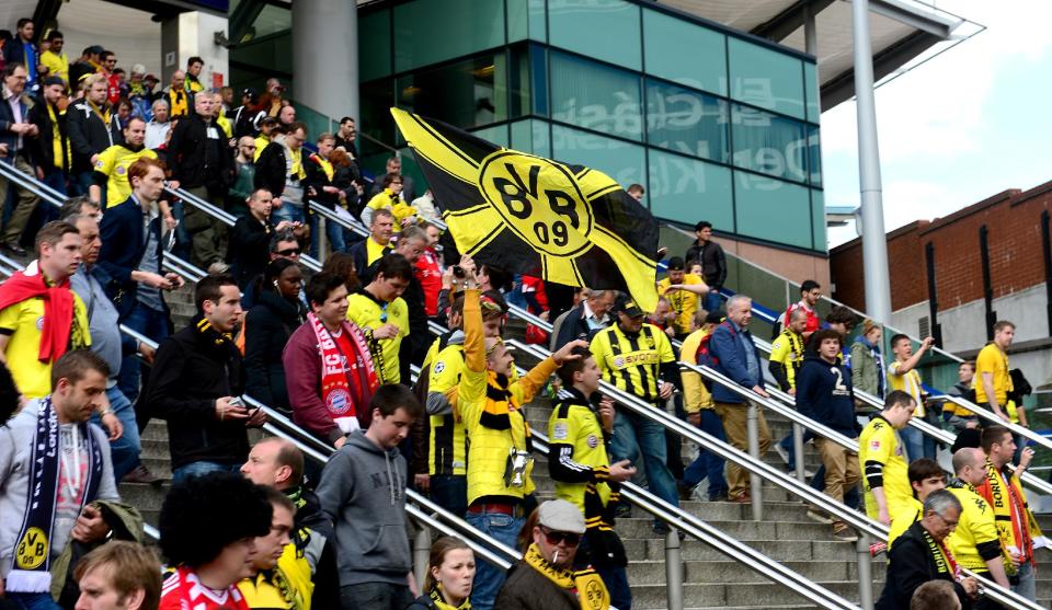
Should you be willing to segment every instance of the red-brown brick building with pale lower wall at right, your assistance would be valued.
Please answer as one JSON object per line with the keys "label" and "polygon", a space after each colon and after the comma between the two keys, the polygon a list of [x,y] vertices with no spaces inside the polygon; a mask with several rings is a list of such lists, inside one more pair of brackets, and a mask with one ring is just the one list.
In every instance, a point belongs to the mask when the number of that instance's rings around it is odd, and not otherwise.
{"label": "red-brown brick building with pale lower wall at right", "polygon": [[[1017,324],[1010,355],[1033,385],[1052,375],[1052,182],[1009,189],[946,218],[888,233],[891,325],[973,356],[996,320]],[[865,309],[862,246],[830,252],[833,297]]]}

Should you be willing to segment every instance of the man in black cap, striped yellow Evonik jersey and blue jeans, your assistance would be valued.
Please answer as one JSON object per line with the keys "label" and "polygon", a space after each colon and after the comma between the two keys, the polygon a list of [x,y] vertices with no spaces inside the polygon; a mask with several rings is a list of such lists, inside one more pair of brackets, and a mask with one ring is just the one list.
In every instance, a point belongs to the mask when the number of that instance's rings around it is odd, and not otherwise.
{"label": "man in black cap, striped yellow Evonik jersey and blue jeans", "polygon": [[[653,324],[643,323],[643,311],[628,295],[619,295],[611,311],[617,323],[599,331],[591,344],[603,379],[664,411],[664,401],[679,383],[679,367],[668,336]],[[618,461],[642,460],[650,491],[679,506],[676,481],[668,470],[665,430],[660,424],[634,411],[619,408],[614,417],[610,454]],[[655,530],[664,532],[665,528],[664,521],[654,521]]]}

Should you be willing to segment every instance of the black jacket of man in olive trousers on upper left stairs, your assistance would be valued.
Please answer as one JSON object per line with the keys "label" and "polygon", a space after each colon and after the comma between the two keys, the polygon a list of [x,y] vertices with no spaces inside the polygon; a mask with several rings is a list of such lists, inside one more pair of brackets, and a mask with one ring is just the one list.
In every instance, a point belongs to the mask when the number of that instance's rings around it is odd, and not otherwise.
{"label": "black jacket of man in olive trousers on upper left stairs", "polygon": [[[216,137],[208,137],[209,128]],[[226,195],[232,184],[233,157],[215,119],[206,122],[197,114],[182,117],[172,128],[168,151],[172,177],[182,188],[205,186],[209,194]]]}

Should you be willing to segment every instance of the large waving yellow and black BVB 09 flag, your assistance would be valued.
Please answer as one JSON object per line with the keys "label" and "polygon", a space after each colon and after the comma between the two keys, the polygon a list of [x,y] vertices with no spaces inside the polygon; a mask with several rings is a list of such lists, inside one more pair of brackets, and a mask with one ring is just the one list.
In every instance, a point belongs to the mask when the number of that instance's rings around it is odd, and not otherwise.
{"label": "large waving yellow and black BVB 09 flag", "polygon": [[611,177],[391,114],[460,252],[567,286],[622,290],[644,311],[656,308],[658,223]]}

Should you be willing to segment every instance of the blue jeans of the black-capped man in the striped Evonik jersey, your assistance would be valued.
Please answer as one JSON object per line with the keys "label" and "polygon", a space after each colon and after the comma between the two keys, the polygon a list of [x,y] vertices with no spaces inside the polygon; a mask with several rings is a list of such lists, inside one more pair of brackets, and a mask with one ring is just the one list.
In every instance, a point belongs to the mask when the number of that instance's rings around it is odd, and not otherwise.
{"label": "blue jeans of the black-capped man in the striped Evonik jersey", "polygon": [[[656,407],[655,407],[656,408]],[[668,470],[665,428],[634,413],[618,411],[614,416],[611,461],[637,463],[642,458],[650,492],[673,506],[679,506],[676,481]]]}

